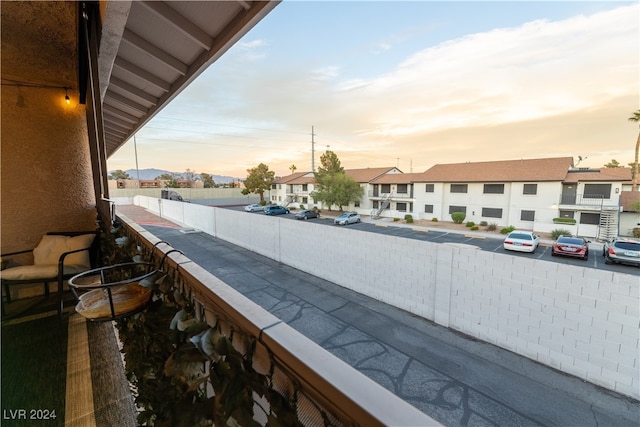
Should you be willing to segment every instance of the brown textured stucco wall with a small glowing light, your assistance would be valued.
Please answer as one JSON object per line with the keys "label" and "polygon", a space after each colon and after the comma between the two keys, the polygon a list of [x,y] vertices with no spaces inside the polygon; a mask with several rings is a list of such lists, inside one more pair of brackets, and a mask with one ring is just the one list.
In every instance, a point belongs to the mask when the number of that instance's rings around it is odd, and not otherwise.
{"label": "brown textured stucco wall with a small glowing light", "polygon": [[[2,4],[2,252],[34,247],[48,231],[95,228],[85,108],[77,97],[77,4],[37,3]],[[51,19],[39,19],[43,13]],[[70,105],[65,86],[75,88]]]}

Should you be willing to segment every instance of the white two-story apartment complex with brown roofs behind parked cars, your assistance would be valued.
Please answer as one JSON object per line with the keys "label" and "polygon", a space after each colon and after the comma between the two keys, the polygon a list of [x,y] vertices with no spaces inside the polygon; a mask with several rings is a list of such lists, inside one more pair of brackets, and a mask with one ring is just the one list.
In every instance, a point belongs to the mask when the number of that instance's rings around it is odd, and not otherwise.
{"label": "white two-story apartment complex with brown roofs behind parked cars", "polygon": [[[464,212],[467,221],[476,223],[537,232],[563,228],[597,239],[631,235],[638,222],[630,203],[627,210],[621,208],[621,194],[631,189],[631,169],[576,168],[571,157],[438,164],[422,173],[397,168],[345,173],[358,176],[365,189],[362,200],[347,209],[373,218],[410,214],[450,221],[451,213]],[[313,174],[301,172],[276,180],[271,200],[314,204],[311,191]],[[558,225],[558,218],[575,223]]]}

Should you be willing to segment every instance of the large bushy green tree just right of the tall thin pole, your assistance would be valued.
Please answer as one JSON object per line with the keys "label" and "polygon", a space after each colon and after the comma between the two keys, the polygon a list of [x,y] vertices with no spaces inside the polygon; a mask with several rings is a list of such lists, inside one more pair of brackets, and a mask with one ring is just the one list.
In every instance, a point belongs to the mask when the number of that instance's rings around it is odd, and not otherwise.
{"label": "large bushy green tree just right of the tall thin pole", "polygon": [[311,197],[325,203],[329,210],[336,205],[341,211],[343,206],[360,200],[363,194],[360,184],[344,173],[344,168],[333,151],[327,150],[320,156],[320,164],[322,166],[314,174],[316,190],[311,192]]}

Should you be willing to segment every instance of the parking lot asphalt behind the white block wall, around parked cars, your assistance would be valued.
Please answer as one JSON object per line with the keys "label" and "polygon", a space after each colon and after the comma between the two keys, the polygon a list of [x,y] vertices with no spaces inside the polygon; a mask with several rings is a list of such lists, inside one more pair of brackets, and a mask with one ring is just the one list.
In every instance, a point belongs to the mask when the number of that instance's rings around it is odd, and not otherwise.
{"label": "parking lot asphalt behind the white block wall, around parked cars", "polygon": [[[243,210],[242,206],[229,207],[229,209]],[[249,213],[247,213],[249,214]],[[289,214],[278,215],[278,218],[295,220],[295,211]],[[252,212],[251,215],[264,215],[262,212]],[[336,212],[335,216],[338,213]],[[318,219],[312,219],[317,224],[338,227],[333,223],[334,216],[322,216]],[[349,227],[361,231],[372,233],[381,233],[407,239],[424,240],[427,242],[443,243],[451,245],[463,245],[467,248],[476,248],[483,251],[502,252],[512,256],[535,258],[549,262],[558,262],[562,264],[575,265],[579,267],[590,267],[599,270],[614,271],[617,273],[634,274],[640,276],[640,268],[631,265],[605,264],[602,256],[602,244],[592,242],[589,246],[589,259],[584,261],[569,257],[554,257],[551,255],[551,241],[543,241],[535,253],[520,253],[505,251],[502,245],[504,236],[482,235],[482,233],[460,233],[452,230],[429,229],[427,227],[412,226],[410,224],[399,224],[391,222],[388,219],[373,220],[369,217],[362,217],[362,222],[358,224],[350,224],[343,227]]]}

